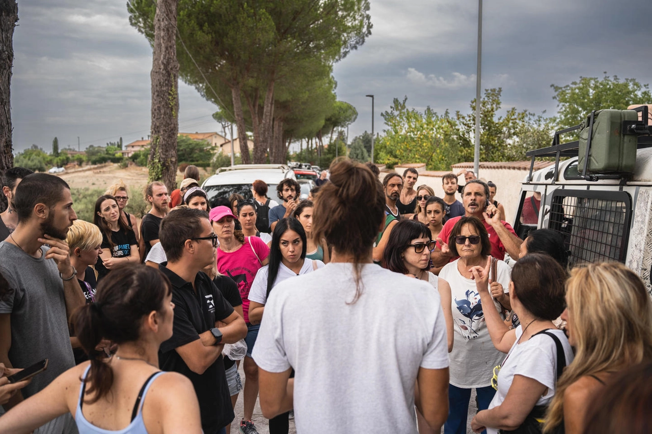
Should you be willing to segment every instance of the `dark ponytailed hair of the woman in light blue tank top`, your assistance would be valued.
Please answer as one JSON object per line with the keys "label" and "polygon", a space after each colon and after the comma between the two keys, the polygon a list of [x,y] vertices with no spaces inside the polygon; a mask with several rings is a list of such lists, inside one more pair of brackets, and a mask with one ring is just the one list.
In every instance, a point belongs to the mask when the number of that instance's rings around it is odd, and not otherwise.
{"label": "dark ponytailed hair of the woman in light blue tank top", "polygon": [[171,292],[170,280],[160,271],[141,264],[115,268],[111,279],[100,281],[95,302],[82,306],[73,317],[76,336],[91,359],[87,381],[91,383],[87,402],[92,404],[109,393],[113,370],[104,360],[104,351],[95,349],[102,339],[114,343],[137,341],[143,317],[162,312]]}

